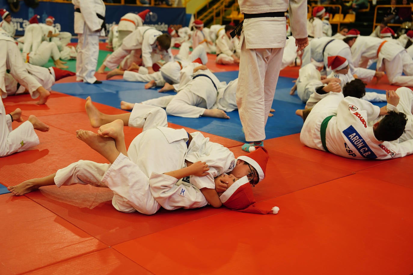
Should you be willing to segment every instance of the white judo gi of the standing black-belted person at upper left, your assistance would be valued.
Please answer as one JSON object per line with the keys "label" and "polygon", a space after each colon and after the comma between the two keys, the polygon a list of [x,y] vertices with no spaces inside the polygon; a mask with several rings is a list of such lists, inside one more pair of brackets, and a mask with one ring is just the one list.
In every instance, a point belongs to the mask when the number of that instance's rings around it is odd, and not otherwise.
{"label": "white judo gi of the standing black-belted person at upper left", "polygon": [[[72,0],[75,8],[74,31],[78,35],[78,55],[76,58],[76,80],[94,83],[97,57],[99,56],[99,35],[102,33],[105,16],[103,0]],[[76,9],[80,9],[77,12]],[[104,31],[103,31],[104,32]]]}

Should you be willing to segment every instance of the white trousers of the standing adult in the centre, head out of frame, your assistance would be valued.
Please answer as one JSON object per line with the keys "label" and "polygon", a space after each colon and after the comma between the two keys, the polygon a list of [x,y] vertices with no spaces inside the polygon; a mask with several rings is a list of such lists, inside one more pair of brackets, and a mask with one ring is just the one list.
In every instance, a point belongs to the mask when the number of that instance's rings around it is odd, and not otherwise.
{"label": "white trousers of the standing adult in the centre, head out of frame", "polygon": [[246,141],[265,139],[283,52],[284,48],[247,49],[245,39],[242,42],[237,106]]}

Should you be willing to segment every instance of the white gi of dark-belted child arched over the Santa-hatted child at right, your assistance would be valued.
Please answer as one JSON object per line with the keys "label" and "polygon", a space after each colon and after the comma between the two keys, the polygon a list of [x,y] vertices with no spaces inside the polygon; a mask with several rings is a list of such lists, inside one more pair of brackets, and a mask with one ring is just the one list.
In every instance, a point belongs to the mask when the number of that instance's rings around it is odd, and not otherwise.
{"label": "white gi of dark-belted child arched over the Santa-hatted child at right", "polygon": [[[323,51],[324,50],[324,51]],[[304,51],[302,64],[304,66],[311,62],[311,58],[316,62],[324,62],[327,74],[331,73],[328,68],[328,57],[339,55],[347,59],[351,74],[356,74],[357,77],[364,82],[370,82],[375,76],[375,71],[366,68],[360,68],[352,60],[350,46],[341,39],[332,39],[331,37],[321,37],[311,39],[309,46]]]}

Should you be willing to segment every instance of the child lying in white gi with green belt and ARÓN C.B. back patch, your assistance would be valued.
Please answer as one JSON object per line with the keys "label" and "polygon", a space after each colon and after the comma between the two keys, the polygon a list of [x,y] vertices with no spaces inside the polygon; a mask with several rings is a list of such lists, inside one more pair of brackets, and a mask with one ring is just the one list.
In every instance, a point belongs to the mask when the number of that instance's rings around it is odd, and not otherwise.
{"label": "child lying in white gi with green belt and AR\u00d3N C.B. back patch", "polygon": [[[311,148],[354,159],[400,158],[413,153],[413,139],[398,140],[406,125],[411,127],[411,119],[406,124],[406,115],[398,112],[396,92],[386,91],[386,96],[387,106],[379,108],[366,100],[331,93],[320,100],[306,118],[301,129],[301,142]],[[411,92],[408,97],[410,105],[405,104],[401,110],[410,108],[411,113]],[[380,120],[379,115],[385,117]],[[372,122],[375,124],[370,126]],[[407,130],[411,132],[411,129]]]}

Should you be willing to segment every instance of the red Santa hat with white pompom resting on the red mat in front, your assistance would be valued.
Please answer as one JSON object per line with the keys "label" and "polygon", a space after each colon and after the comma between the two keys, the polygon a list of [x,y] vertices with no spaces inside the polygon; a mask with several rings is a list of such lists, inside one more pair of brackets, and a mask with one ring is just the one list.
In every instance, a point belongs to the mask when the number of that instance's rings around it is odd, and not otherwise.
{"label": "red Santa hat with white pompom resting on the red mat in front", "polygon": [[235,211],[255,213],[255,214],[277,214],[280,208],[274,206],[271,210],[262,209],[255,205],[254,194],[247,176],[244,176],[228,187],[219,197],[221,203]]}

